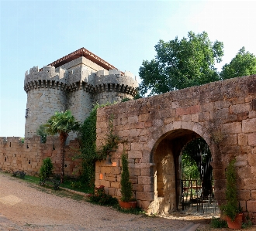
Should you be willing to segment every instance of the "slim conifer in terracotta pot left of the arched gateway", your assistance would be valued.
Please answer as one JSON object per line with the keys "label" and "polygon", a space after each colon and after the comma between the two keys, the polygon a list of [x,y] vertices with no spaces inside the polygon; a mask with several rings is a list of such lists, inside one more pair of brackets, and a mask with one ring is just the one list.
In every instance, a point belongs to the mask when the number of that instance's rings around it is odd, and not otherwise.
{"label": "slim conifer in terracotta pot left of the arched gateway", "polygon": [[130,209],[136,207],[136,199],[133,199],[132,183],[130,180],[129,168],[128,168],[128,156],[123,148],[122,154],[122,173],[121,173],[121,200],[119,206],[124,209]]}

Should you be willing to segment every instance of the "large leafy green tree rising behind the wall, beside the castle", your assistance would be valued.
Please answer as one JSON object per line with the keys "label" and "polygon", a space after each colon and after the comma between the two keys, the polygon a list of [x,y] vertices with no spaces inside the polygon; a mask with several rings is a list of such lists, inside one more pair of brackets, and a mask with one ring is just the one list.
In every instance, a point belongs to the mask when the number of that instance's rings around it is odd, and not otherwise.
{"label": "large leafy green tree rising behind the wall, beside the castle", "polygon": [[206,32],[189,32],[188,38],[181,40],[160,40],[154,48],[155,59],[144,60],[140,66],[142,96],[220,80],[214,65],[222,60],[223,42],[211,42]]}

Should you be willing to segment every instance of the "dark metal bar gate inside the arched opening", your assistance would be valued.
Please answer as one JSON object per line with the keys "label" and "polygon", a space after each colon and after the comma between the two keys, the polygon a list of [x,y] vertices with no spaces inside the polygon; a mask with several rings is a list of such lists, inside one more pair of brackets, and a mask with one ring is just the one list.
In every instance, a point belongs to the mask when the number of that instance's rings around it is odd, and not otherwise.
{"label": "dark metal bar gate inside the arched opening", "polygon": [[185,212],[216,214],[220,209],[214,198],[213,168],[209,146],[202,138],[185,145],[179,160],[178,209]]}

